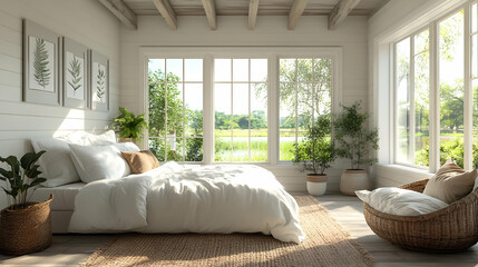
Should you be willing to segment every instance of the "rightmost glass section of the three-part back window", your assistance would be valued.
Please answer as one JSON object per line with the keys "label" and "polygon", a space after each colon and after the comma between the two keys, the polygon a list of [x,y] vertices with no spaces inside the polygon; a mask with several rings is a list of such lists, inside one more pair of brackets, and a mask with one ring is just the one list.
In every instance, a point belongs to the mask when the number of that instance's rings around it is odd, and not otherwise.
{"label": "rightmost glass section of the three-part back window", "polygon": [[280,59],[280,160],[294,157],[293,145],[320,115],[332,110],[332,60]]}

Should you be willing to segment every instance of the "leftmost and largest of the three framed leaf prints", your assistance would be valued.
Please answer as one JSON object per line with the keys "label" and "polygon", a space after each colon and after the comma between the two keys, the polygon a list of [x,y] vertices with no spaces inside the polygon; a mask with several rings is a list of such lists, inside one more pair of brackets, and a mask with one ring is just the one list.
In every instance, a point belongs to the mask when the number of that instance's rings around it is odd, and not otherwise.
{"label": "leftmost and largest of the three framed leaf prints", "polygon": [[61,106],[61,36],[23,19],[22,100]]}

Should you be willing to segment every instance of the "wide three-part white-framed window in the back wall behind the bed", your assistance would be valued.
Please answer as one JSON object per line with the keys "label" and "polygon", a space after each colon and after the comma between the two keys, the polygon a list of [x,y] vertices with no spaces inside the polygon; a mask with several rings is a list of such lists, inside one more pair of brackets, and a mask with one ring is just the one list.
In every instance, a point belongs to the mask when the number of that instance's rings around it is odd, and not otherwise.
{"label": "wide three-part white-framed window in the back wall behind the bed", "polygon": [[287,164],[341,101],[341,49],[293,50],[142,49],[145,144],[160,161]]}

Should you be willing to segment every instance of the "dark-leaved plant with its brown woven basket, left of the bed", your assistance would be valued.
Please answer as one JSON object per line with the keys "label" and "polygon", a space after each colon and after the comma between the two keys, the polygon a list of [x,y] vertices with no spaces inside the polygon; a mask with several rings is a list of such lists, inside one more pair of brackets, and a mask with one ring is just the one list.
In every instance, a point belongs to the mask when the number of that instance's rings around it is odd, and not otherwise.
{"label": "dark-leaved plant with its brown woven basket, left of the bed", "polygon": [[22,255],[42,250],[51,245],[50,199],[45,202],[29,202],[28,189],[47,179],[38,177],[37,160],[45,151],[28,152],[20,161],[14,156],[0,157],[0,162],[10,170],[0,168],[1,187],[8,195],[9,207],[1,210],[0,249],[3,254]]}

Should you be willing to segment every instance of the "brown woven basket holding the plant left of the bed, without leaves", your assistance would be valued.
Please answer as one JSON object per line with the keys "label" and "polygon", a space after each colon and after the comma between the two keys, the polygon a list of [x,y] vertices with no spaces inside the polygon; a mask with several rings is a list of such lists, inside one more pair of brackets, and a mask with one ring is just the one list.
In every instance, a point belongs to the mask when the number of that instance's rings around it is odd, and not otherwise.
{"label": "brown woven basket holding the plant left of the bed, without leaves", "polygon": [[42,250],[51,245],[50,202],[32,204],[26,209],[1,210],[0,249],[6,255],[23,255]]}

